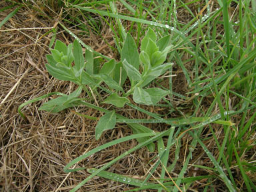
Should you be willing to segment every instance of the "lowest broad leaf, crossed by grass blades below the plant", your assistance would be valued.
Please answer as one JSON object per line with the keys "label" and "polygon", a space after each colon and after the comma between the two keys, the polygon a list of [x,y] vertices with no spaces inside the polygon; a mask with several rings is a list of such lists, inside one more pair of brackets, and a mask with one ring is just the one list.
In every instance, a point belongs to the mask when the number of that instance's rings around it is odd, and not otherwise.
{"label": "lowest broad leaf, crossed by grass blades below the plant", "polygon": [[[139,133],[155,133],[153,130],[149,129],[148,127],[145,127],[139,123],[127,123],[128,127],[131,128],[131,130],[133,130],[133,134],[139,134]],[[150,137],[141,137],[141,138],[137,138],[137,141],[139,143],[143,143],[144,141],[147,141],[147,139],[149,139]],[[149,143],[147,145],[147,148],[149,149],[150,152],[155,151],[155,144]]]}

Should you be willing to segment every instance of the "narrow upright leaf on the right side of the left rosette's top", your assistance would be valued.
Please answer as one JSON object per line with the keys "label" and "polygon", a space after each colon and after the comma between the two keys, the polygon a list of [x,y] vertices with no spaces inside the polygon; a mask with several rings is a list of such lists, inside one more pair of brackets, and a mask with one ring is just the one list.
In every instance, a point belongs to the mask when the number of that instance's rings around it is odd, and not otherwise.
{"label": "narrow upright leaf on the right side of the left rosette's top", "polygon": [[83,49],[77,40],[74,41],[73,49],[75,69],[79,71],[80,69],[85,67],[85,58],[83,57]]}

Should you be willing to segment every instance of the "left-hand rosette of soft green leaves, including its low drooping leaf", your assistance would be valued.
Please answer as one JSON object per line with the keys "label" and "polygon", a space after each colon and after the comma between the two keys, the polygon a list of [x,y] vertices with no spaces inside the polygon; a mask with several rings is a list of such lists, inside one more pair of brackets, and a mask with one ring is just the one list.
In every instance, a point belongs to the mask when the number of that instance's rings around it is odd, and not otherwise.
{"label": "left-hand rosette of soft green leaves, including its low drooping leaf", "polygon": [[115,68],[114,59],[104,63],[99,69],[99,60],[95,59],[89,50],[85,51],[84,57],[83,49],[77,40],[68,46],[57,40],[54,49],[51,49],[51,55],[46,55],[46,58],[48,63],[45,66],[50,75],[59,80],[72,81],[79,85],[79,88],[69,95],[63,94],[61,97],[44,103],[39,108],[40,110],[58,113],[63,109],[79,105],[79,101],[81,101],[79,95],[83,88],[86,89],[85,85],[95,88],[103,82],[101,79],[104,79],[109,87],[123,90],[113,81],[113,78],[109,77],[109,75],[113,75]]}

